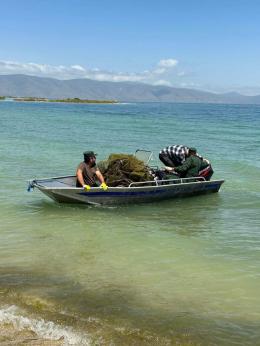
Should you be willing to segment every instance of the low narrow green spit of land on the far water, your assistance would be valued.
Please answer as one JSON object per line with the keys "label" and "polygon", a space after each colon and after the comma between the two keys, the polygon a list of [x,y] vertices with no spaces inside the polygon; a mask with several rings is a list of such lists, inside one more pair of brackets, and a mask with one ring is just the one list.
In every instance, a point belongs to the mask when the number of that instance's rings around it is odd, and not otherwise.
{"label": "low narrow green spit of land on the far water", "polygon": [[44,97],[12,97],[0,96],[0,100],[12,100],[17,102],[64,102],[64,103],[119,103],[116,100],[85,100],[78,97],[66,99],[48,99]]}

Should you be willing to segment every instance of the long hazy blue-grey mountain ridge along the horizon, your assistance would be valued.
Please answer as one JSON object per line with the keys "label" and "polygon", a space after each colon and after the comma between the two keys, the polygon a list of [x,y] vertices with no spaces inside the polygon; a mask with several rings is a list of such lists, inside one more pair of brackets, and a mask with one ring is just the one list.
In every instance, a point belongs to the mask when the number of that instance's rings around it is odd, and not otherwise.
{"label": "long hazy blue-grey mountain ridge along the horizon", "polygon": [[260,95],[215,94],[133,82],[91,79],[58,80],[27,75],[0,75],[0,96],[118,100],[121,102],[186,102],[260,104]]}

